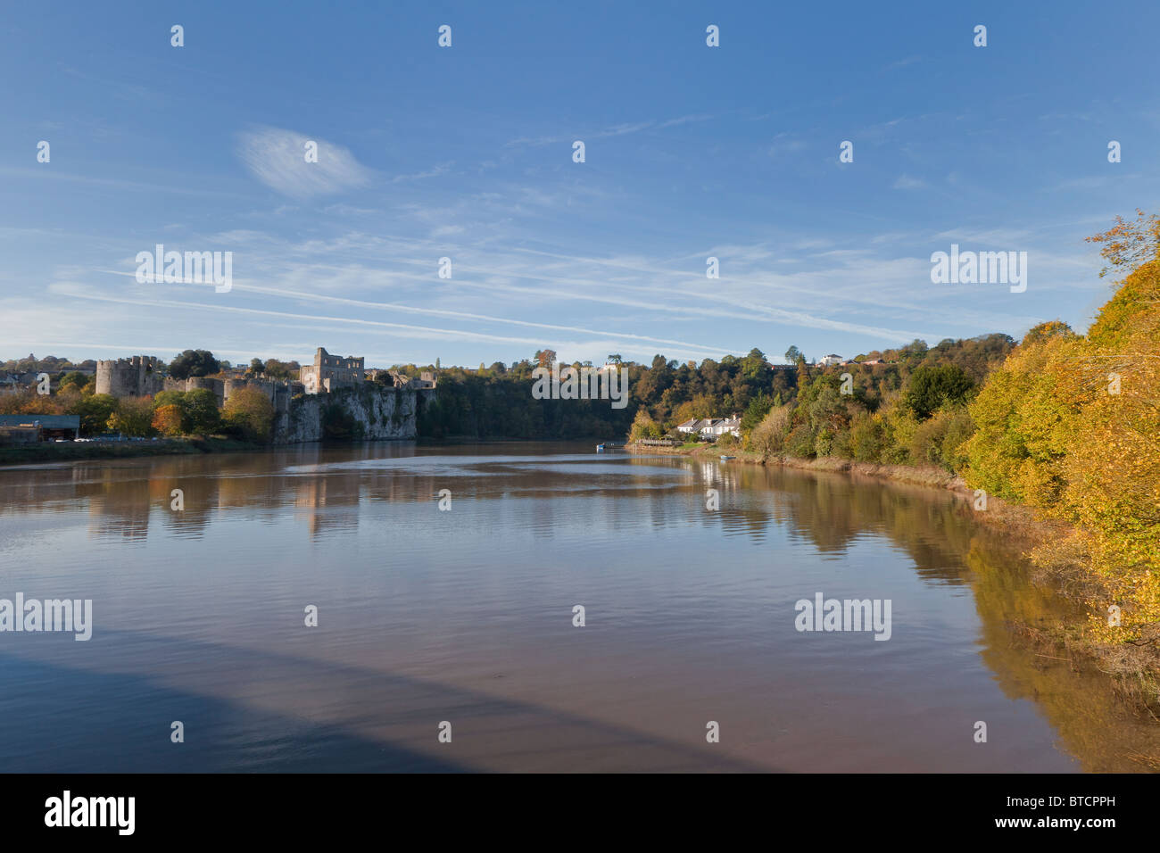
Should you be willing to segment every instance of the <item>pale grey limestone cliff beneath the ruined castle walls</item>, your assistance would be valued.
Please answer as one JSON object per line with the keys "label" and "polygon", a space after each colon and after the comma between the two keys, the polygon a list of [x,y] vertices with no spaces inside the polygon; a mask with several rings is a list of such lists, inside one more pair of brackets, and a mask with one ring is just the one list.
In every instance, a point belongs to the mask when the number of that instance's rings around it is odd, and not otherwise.
{"label": "pale grey limestone cliff beneath the ruined castle walls", "polygon": [[434,392],[362,383],[329,393],[295,395],[287,411],[275,414],[274,443],[414,439],[420,393]]}

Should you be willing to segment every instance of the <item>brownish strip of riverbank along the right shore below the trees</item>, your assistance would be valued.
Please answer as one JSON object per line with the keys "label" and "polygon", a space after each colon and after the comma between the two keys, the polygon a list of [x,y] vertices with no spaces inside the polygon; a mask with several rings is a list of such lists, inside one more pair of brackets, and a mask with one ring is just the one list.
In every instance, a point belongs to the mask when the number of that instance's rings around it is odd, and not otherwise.
{"label": "brownish strip of riverbank along the right shore below the trees", "polygon": [[[658,447],[626,444],[630,453],[690,456],[699,460],[719,460],[732,456],[728,462],[756,465],[781,465],[809,471],[847,474],[861,477],[890,479],[929,489],[954,492],[964,501],[964,512],[970,512],[981,523],[1001,534],[1023,555],[1031,558],[1032,551],[1042,545],[1065,540],[1072,532],[1067,525],[1044,519],[1034,509],[1010,504],[1000,498],[987,497],[986,511],[973,509],[974,491],[958,475],[941,468],[913,465],[882,465],[851,462],[832,457],[797,458],[792,456],[762,457],[761,454],[740,448],[720,448],[713,444],[682,447]],[[1036,555],[1038,556],[1038,555]],[[1034,559],[1037,583],[1052,587],[1058,594],[1073,601],[1114,600],[1101,592],[1099,578],[1090,566],[1075,562]],[[1013,622],[1010,629],[1022,637],[1037,653],[1049,650],[1065,651],[1101,672],[1112,677],[1116,692],[1138,714],[1160,722],[1160,638],[1146,642],[1100,643],[1086,637],[1081,626],[1029,624]]]}

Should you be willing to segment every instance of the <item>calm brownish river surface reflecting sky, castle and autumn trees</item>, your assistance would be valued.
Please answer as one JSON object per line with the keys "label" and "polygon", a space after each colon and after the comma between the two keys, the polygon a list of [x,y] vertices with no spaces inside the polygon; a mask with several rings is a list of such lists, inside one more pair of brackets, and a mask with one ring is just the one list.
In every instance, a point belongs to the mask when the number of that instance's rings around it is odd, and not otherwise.
{"label": "calm brownish river surface reflecting sky, castle and autumn trees", "polygon": [[[87,643],[0,634],[5,769],[1146,771],[1160,756],[1160,727],[1102,674],[1013,637],[1066,605],[941,492],[588,444],[365,444],[9,469],[0,500],[0,598],[90,598],[95,616]],[[891,639],[797,632],[793,603],[817,592],[891,599]]]}

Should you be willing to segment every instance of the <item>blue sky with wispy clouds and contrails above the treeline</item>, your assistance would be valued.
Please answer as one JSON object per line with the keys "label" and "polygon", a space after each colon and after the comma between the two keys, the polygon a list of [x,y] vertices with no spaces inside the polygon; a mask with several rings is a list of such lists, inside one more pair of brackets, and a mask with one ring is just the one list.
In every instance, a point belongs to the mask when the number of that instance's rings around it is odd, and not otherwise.
{"label": "blue sky with wispy clouds and contrails above the treeline", "polygon": [[[781,360],[1083,330],[1110,294],[1083,237],[1158,208],[1158,31],[1143,1],[12,5],[0,359]],[[232,289],[138,283],[158,243],[233,252]],[[1025,251],[1027,291],[933,284],[952,243]]]}

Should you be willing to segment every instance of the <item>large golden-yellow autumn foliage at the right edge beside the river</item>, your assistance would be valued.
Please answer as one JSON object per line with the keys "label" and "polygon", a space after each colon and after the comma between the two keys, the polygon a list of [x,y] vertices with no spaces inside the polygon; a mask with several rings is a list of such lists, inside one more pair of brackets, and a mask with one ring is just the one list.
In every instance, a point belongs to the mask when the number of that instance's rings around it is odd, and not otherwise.
{"label": "large golden-yellow autumn foliage at the right edge beside the river", "polygon": [[[1160,219],[1140,214],[1090,238],[1131,272],[1088,334],[1028,333],[971,405],[967,483],[1071,522],[1036,551],[1079,559],[1099,591],[1090,634],[1160,638]],[[1119,624],[1108,617],[1121,608]]]}

